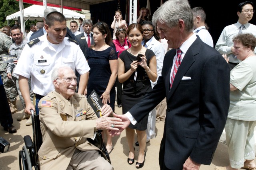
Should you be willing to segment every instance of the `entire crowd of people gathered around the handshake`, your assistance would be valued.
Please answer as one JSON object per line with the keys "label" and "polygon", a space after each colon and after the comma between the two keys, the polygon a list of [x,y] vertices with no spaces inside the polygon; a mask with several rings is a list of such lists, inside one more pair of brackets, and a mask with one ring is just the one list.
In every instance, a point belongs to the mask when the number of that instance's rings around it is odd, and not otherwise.
{"label": "entire crowd of people gathered around the handshake", "polygon": [[[256,25],[248,23],[253,7],[250,1],[238,4],[238,22],[224,28],[215,47],[204,9],[191,9],[187,0],[166,1],[152,21],[141,8],[137,23],[130,25],[117,10],[111,25],[79,18],[69,29],[53,8],[44,11],[43,22],[30,25],[27,35],[18,25],[6,25],[0,56],[16,59],[0,59],[1,125],[17,131],[11,114],[18,95],[24,108],[18,121],[28,119],[31,125],[30,109],[40,115],[41,170],[113,169],[87,138],[103,130],[110,154],[112,137],[124,129],[127,162],[134,164],[134,145],[139,146],[135,167],[142,168],[159,121],[165,122],[162,170],[209,165],[223,129],[230,164],[215,170],[256,169]],[[93,90],[104,105],[100,118],[86,100]],[[116,100],[122,115],[115,114]]]}

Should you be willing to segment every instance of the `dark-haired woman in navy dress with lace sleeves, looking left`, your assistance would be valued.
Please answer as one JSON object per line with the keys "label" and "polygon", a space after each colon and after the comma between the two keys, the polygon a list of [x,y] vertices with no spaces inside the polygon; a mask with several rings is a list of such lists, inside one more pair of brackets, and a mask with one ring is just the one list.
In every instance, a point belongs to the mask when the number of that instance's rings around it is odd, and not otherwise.
{"label": "dark-haired woman in navy dress with lace sleeves, looking left", "polygon": [[[118,57],[114,49],[111,33],[105,22],[98,22],[93,25],[94,45],[87,52],[86,59],[90,66],[87,95],[93,90],[100,96],[103,104],[111,106],[115,111],[115,82],[118,70]],[[106,148],[108,153],[113,150],[112,137],[108,131]]]}

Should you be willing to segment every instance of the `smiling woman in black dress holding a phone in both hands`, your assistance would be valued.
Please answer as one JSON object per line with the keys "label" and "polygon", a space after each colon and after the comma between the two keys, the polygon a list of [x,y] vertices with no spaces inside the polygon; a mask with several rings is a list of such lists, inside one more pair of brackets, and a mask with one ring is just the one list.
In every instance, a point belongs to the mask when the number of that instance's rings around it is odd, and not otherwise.
{"label": "smiling woman in black dress holding a phone in both hands", "polygon": [[[151,83],[156,81],[156,56],[152,50],[146,49],[141,45],[143,37],[143,29],[140,24],[132,23],[127,30],[128,38],[132,47],[123,51],[118,61],[118,80],[123,84],[122,90],[122,112],[125,114],[140,101],[146,93],[150,92]],[[142,54],[141,61],[136,61],[136,56]],[[142,121],[136,125],[130,124],[126,128],[126,138],[129,145],[128,164],[134,163],[134,129],[138,135],[138,142],[140,145],[140,152],[136,162],[136,168],[141,168],[145,161],[145,147],[146,147],[146,129],[148,117],[146,116]]]}

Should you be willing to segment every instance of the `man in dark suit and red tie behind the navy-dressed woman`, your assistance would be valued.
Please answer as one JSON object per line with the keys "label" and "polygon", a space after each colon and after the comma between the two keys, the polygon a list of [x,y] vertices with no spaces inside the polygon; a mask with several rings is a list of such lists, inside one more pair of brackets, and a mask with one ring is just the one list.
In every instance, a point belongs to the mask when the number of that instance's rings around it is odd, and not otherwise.
{"label": "man in dark suit and red tie behind the navy-dressed woman", "polygon": [[79,35],[76,35],[76,39],[79,43],[80,49],[84,53],[84,57],[86,57],[88,48],[90,48],[90,46],[94,44],[93,34],[91,33],[92,20],[83,20],[82,27],[84,28],[84,32],[82,32]]}

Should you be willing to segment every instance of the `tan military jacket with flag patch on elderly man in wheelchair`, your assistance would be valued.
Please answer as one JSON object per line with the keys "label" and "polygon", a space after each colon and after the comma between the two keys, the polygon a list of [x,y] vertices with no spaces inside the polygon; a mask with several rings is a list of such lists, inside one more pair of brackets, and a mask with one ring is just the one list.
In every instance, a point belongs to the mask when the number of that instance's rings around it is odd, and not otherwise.
{"label": "tan military jacket with flag patch on elderly man in wheelchair", "polygon": [[99,150],[86,139],[94,137],[97,116],[84,95],[76,93],[66,100],[53,91],[39,101],[38,108],[43,138],[40,170],[66,170],[76,149]]}

